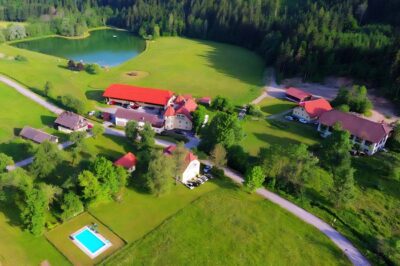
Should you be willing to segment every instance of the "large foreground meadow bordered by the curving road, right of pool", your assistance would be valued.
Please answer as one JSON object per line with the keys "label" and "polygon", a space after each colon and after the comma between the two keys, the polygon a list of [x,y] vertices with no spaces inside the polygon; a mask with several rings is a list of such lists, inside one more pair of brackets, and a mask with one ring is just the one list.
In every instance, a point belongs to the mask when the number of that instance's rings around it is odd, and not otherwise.
{"label": "large foreground meadow bordered by the curving road, right of pool", "polygon": [[204,195],[103,264],[350,265],[313,227],[232,188]]}

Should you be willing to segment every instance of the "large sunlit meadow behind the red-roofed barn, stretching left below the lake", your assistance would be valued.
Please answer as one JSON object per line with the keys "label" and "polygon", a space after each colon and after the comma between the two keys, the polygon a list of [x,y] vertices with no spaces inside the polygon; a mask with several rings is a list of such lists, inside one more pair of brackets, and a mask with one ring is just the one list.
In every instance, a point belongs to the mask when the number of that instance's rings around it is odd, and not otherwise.
{"label": "large sunlit meadow behind the red-roofed barn, stretching left below the lake", "polygon": [[[232,45],[165,37],[149,42],[138,57],[98,75],[66,69],[67,60],[10,45],[0,45],[0,73],[41,92],[54,84],[51,98],[71,94],[85,100],[87,108],[99,104],[111,83],[170,89],[194,96],[223,95],[235,104],[257,97],[262,87],[264,63],[255,53]],[[22,55],[26,62],[15,61]],[[128,73],[136,72],[137,76]]]}

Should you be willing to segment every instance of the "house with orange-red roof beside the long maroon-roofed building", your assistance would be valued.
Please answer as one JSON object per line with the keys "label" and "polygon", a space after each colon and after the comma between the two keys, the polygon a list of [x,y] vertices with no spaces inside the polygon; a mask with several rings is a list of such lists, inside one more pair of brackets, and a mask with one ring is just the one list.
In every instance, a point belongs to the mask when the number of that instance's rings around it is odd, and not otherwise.
{"label": "house with orange-red roof beside the long maroon-roofed building", "polygon": [[301,102],[299,106],[293,109],[293,116],[297,118],[302,118],[308,122],[318,119],[321,114],[332,110],[331,104],[321,98],[316,100],[310,100],[306,102]]}

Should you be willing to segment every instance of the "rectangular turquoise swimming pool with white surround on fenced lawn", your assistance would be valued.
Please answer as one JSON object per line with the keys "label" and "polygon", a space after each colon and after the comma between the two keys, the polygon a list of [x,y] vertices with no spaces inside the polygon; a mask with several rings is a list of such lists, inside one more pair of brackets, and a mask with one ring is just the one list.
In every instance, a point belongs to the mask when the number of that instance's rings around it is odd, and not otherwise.
{"label": "rectangular turquoise swimming pool with white surround on fenced lawn", "polygon": [[88,226],[72,235],[72,241],[89,257],[95,258],[111,246],[111,242]]}

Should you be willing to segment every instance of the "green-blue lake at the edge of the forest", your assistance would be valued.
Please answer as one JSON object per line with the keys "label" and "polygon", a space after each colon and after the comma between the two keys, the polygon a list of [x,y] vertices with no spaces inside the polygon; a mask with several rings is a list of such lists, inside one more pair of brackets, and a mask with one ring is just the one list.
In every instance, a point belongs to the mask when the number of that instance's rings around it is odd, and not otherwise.
{"label": "green-blue lake at the edge of the forest", "polygon": [[13,46],[101,66],[117,66],[144,51],[146,43],[127,31],[96,30],[85,39],[44,38]]}

